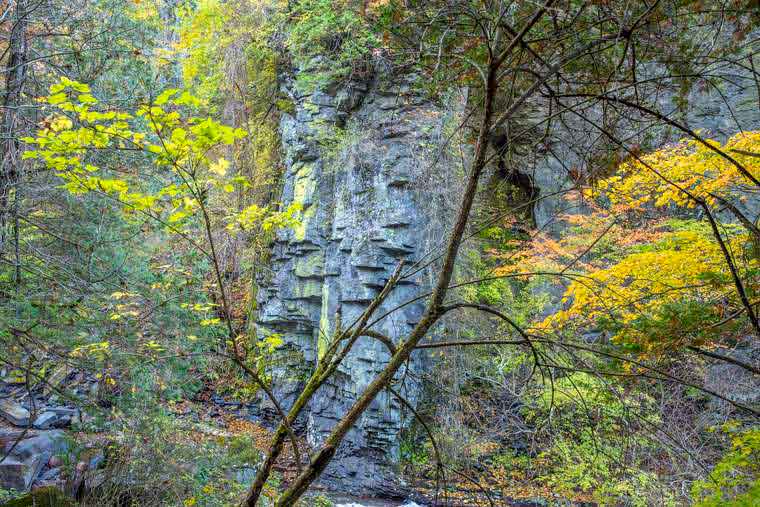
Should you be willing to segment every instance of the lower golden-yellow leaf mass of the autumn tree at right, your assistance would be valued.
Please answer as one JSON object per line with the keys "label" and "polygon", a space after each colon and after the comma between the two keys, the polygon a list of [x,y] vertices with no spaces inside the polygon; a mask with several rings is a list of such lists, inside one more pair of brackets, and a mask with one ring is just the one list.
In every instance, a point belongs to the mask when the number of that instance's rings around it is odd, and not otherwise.
{"label": "lower golden-yellow leaf mass of the autumn tree at right", "polygon": [[[741,251],[745,240],[735,235],[729,246]],[[757,268],[757,260],[746,267]],[[682,343],[676,336],[668,337],[666,343],[652,342],[634,325],[637,320],[656,320],[666,306],[685,301],[717,309],[719,302],[735,300],[725,259],[709,232],[678,231],[608,268],[577,276],[563,297],[567,308],[547,318],[543,327],[559,329],[604,320],[618,329],[614,339],[654,350]]]}

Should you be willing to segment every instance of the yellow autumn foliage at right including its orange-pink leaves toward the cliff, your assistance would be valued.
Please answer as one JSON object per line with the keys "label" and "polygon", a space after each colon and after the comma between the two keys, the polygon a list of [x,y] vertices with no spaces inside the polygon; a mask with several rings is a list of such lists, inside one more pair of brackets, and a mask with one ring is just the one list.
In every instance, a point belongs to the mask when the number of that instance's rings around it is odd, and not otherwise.
{"label": "yellow autumn foliage at right including its orange-pink leaves toward the cliff", "polygon": [[[724,144],[706,142],[760,177],[760,132],[738,133]],[[644,353],[712,341],[720,329],[711,324],[742,307],[712,231],[696,220],[631,212],[693,208],[694,198],[708,206],[737,202],[749,184],[735,163],[709,146],[681,141],[623,163],[589,193],[597,198],[587,203],[592,213],[560,217],[569,225],[560,238],[537,234],[527,248],[502,255],[497,274],[561,271],[572,279],[564,309],[545,319],[544,329],[601,328]],[[748,248],[750,235],[739,226],[724,224],[721,230],[745,290],[757,294],[760,261]]]}

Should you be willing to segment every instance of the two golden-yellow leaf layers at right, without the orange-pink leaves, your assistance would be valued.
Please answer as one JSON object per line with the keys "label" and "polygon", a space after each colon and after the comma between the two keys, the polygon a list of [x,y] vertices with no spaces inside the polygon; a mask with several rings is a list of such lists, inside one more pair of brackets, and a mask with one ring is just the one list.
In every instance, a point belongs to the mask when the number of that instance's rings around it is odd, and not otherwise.
{"label": "two golden-yellow leaf layers at right, without the orange-pink leaves", "polygon": [[[607,200],[613,215],[631,216],[630,212],[652,208],[694,208],[700,202],[710,207],[738,203],[746,199],[752,178],[758,177],[760,131],[740,132],[725,143],[683,140],[634,157],[588,194],[597,202]],[[738,305],[725,255],[706,224],[681,221],[675,231],[663,234],[651,219],[642,219],[640,228],[651,237],[606,265],[584,263],[588,272],[567,288],[565,308],[541,327],[601,325],[613,339],[646,352],[703,339],[708,322],[720,320],[726,308]],[[728,250],[738,256],[734,262],[745,274],[746,289],[760,289],[757,256],[742,256],[748,251],[747,231],[724,224],[722,234]],[[562,242],[568,244],[567,239]],[[612,245],[625,252],[619,238]]]}

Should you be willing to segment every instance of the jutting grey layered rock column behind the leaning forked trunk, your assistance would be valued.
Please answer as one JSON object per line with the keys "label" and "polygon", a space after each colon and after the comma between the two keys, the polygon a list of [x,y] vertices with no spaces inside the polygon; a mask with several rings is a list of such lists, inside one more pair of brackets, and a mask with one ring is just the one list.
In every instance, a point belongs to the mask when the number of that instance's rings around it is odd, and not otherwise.
{"label": "jutting grey layered rock column behind the leaning forked trunk", "polygon": [[[285,342],[271,373],[275,394],[286,407],[333,333],[338,309],[344,326],[353,322],[400,261],[410,267],[443,237],[442,180],[451,177],[452,163],[440,146],[445,125],[456,114],[430,104],[403,79],[337,88],[304,95],[289,82],[284,85],[295,111],[281,122],[286,165],[281,201],[284,206],[298,202],[303,209],[301,224],[280,233],[274,245],[273,274],[258,296],[258,333],[260,338],[277,333]],[[376,315],[424,292],[429,276],[423,269],[402,280]],[[407,305],[373,329],[396,341],[419,321],[423,309],[423,301]],[[380,342],[360,339],[299,421],[312,445],[329,434],[388,358]],[[421,354],[414,357],[409,372],[419,371],[424,362]],[[399,389],[414,402],[419,385],[412,376],[404,378]],[[266,400],[261,408],[276,420]],[[381,394],[346,437],[323,479],[344,491],[383,489],[405,422],[401,414],[399,401]]]}

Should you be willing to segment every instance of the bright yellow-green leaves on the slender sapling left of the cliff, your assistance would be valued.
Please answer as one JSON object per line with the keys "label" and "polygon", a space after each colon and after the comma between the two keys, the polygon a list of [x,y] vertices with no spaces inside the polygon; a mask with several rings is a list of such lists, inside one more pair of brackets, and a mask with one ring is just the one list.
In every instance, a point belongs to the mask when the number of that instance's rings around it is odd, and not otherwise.
{"label": "bright yellow-green leaves on the slender sapling left of the cliff", "polygon": [[[46,102],[59,112],[35,137],[23,139],[36,148],[26,150],[24,157],[53,169],[67,191],[108,195],[121,202],[125,212],[149,214],[176,231],[196,217],[210,189],[231,193],[251,186],[246,177],[231,174],[229,160],[215,155],[215,150],[234,145],[248,133],[209,117],[187,115],[199,104],[187,91],[165,90],[134,114],[92,109],[98,101],[88,92],[87,85],[66,78],[53,85]],[[151,173],[160,185],[147,185],[139,171],[134,177],[113,171],[112,177],[105,174],[109,168],[88,163],[90,152],[102,149],[141,152],[154,166]],[[268,232],[295,225],[294,213],[254,205],[225,218],[232,224],[230,231],[260,227]]]}

